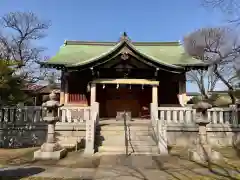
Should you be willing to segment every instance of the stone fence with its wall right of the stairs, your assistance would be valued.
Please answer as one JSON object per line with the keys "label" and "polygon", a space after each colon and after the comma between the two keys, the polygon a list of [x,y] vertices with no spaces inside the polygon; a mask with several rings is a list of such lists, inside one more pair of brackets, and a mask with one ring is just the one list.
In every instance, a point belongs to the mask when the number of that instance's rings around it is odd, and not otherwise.
{"label": "stone fence with its wall right of the stairs", "polygon": [[[240,142],[240,109],[236,106],[208,109],[208,140],[213,146],[232,146]],[[195,143],[198,127],[192,107],[158,107],[155,120],[168,145],[188,146]],[[165,131],[164,132],[164,129]]]}

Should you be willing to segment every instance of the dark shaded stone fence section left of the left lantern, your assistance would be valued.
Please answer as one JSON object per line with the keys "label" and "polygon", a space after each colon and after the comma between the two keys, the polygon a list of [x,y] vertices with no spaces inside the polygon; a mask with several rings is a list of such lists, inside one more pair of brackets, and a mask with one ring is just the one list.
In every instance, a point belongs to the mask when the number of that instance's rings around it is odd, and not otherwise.
{"label": "dark shaded stone fence section left of the left lantern", "polygon": [[38,106],[0,108],[0,147],[39,146],[45,140],[44,110]]}

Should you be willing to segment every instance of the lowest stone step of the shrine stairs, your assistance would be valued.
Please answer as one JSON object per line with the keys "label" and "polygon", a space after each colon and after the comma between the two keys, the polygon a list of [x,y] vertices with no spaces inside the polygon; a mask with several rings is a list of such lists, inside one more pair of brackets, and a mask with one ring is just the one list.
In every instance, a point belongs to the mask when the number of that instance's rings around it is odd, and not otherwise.
{"label": "lowest stone step of the shrine stairs", "polygon": [[[157,146],[128,146],[129,152],[149,152],[149,153],[158,153]],[[126,152],[125,146],[99,146],[98,152]]]}

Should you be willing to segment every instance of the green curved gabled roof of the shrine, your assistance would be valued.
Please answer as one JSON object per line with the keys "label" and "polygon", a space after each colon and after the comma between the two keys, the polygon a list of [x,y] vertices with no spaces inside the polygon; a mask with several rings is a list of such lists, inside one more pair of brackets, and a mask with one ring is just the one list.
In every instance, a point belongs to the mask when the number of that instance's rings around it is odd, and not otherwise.
{"label": "green curved gabled roof of the shrine", "polygon": [[65,41],[45,65],[79,67],[108,57],[123,46],[128,46],[149,61],[171,68],[206,66],[202,61],[186,56],[179,42],[131,42],[126,33],[119,42]]}

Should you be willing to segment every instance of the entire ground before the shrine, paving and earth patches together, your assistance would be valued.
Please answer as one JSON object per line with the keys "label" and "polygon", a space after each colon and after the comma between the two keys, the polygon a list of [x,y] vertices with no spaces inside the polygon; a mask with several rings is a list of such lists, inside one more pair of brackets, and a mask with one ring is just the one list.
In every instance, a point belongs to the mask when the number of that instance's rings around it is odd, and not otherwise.
{"label": "entire ground before the shrine, paving and earth patches together", "polygon": [[[117,155],[117,156],[84,156],[82,152],[70,152],[60,161],[32,161],[31,154],[13,156],[15,151],[7,154],[0,153],[0,179],[21,179],[24,177],[66,178],[67,180],[191,180],[213,177],[217,180],[240,180],[239,156],[233,149],[221,150],[227,161],[218,164],[198,164],[191,162],[186,156],[185,149],[172,150],[170,156],[147,155]],[[8,153],[9,154],[9,153]],[[7,160],[4,160],[6,157]],[[2,160],[1,160],[2,159]],[[226,165],[226,163],[229,163]],[[10,168],[11,167],[11,168]],[[10,177],[11,176],[11,177]],[[14,176],[14,178],[13,178]]]}

